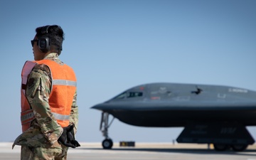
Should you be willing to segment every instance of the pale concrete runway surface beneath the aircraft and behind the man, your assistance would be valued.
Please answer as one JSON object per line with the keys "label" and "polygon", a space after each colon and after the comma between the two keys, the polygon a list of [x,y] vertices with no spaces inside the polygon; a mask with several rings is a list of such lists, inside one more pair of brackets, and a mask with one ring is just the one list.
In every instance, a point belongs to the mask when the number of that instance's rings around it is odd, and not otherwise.
{"label": "pale concrete runway surface beneath the aircraft and behind the man", "polygon": [[[12,143],[0,143],[0,159],[20,159],[20,146],[11,149]],[[207,144],[136,143],[135,147],[102,149],[101,143],[81,143],[77,149],[69,149],[68,160],[256,160],[256,144],[246,151],[215,151]]]}

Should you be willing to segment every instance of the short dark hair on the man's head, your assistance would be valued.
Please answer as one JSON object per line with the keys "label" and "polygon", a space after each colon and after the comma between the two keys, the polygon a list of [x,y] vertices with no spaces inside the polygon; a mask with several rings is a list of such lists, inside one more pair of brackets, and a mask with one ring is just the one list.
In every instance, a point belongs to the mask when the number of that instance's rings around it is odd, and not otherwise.
{"label": "short dark hair on the man's head", "polygon": [[62,50],[62,43],[64,41],[63,29],[58,25],[48,26],[47,33],[42,30],[47,26],[41,26],[36,28],[36,37],[41,38],[41,36],[47,36],[50,39],[50,51],[58,53],[60,55]]}

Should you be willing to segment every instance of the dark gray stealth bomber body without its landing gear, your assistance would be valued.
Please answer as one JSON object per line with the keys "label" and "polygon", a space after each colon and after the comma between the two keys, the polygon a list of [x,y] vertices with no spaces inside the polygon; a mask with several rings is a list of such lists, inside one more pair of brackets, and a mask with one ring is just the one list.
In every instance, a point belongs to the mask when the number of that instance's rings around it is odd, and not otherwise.
{"label": "dark gray stealth bomber body without its landing gear", "polygon": [[183,127],[190,122],[256,125],[256,92],[237,87],[175,83],[139,85],[92,108],[142,127]]}

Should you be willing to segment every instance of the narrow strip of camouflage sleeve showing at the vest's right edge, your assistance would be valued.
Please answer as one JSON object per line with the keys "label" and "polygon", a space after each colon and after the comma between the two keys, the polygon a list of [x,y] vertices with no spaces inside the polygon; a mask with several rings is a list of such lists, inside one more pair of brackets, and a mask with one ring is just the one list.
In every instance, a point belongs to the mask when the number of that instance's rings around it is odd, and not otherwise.
{"label": "narrow strip of camouflage sleeve showing at the vest's right edge", "polygon": [[71,106],[70,112],[70,124],[75,126],[74,132],[76,133],[78,129],[78,105],[77,105],[77,92],[75,91],[75,95],[73,97],[73,103]]}

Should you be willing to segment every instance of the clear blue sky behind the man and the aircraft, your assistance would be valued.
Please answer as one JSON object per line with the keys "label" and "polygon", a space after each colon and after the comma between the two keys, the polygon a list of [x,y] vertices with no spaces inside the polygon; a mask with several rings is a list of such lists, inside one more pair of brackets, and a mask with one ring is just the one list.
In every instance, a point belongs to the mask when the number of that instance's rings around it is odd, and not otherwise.
{"label": "clear blue sky behind the man and the aircraft", "polygon": [[[65,32],[60,59],[78,78],[80,142],[101,142],[92,105],[149,82],[256,90],[256,1],[0,1],[0,142],[21,133],[21,69],[38,26]],[[256,98],[256,97],[255,97]],[[256,118],[256,117],[255,117]],[[256,127],[250,127],[256,139]],[[171,142],[182,128],[134,127],[115,119],[114,142]]]}

